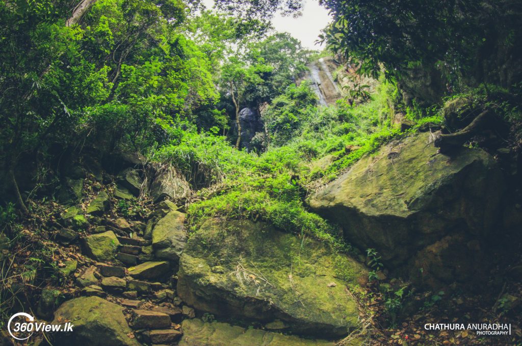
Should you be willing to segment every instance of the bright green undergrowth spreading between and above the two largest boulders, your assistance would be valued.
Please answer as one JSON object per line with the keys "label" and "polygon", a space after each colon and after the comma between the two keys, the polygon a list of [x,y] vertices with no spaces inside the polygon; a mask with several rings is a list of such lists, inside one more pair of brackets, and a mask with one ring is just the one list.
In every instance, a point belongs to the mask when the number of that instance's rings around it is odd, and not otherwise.
{"label": "bright green undergrowth spreading between and above the two largest boulders", "polygon": [[[291,86],[264,115],[280,131],[267,139],[263,153],[238,151],[225,137],[187,131],[151,159],[176,166],[199,188],[187,203],[190,232],[209,218],[263,220],[346,249],[339,228],[307,210],[304,201],[400,135],[389,121],[394,91],[383,81],[369,102],[351,106],[340,100],[324,107],[306,83]],[[314,166],[327,155],[333,156],[328,165]]]}

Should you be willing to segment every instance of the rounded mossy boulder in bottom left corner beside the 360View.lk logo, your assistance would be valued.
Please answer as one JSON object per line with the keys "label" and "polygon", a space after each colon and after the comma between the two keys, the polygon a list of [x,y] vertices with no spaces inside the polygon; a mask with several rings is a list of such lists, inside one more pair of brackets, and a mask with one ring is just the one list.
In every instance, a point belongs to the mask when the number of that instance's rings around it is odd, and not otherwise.
{"label": "rounded mossy boulder in bottom left corner beside the 360View.lk logo", "polygon": [[123,315],[123,308],[97,296],[63,303],[54,314],[54,324],[70,321],[72,332],[53,334],[56,346],[139,346]]}

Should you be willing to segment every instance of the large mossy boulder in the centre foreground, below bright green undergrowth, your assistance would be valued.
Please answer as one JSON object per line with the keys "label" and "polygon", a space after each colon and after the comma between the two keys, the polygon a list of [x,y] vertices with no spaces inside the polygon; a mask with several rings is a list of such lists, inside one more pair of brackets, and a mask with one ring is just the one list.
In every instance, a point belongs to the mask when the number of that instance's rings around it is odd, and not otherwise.
{"label": "large mossy boulder in the centre foreground, below bright green undergrowth", "polygon": [[188,305],[217,316],[279,319],[295,333],[334,338],[357,327],[346,289],[365,278],[361,264],[321,242],[262,222],[210,220],[185,247],[177,290]]}

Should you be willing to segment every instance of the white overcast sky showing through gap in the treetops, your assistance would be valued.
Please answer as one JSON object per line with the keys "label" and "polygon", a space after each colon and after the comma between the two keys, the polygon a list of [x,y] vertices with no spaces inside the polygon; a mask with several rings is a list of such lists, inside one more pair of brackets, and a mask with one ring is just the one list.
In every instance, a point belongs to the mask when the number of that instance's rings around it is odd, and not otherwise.
{"label": "white overcast sky showing through gap in the treetops", "polygon": [[[207,8],[214,5],[214,0],[203,0]],[[319,6],[318,0],[304,0],[302,16],[293,18],[292,16],[282,17],[276,15],[272,20],[272,25],[276,31],[288,32],[296,39],[300,40],[303,47],[307,49],[321,50],[322,47],[315,45],[321,29],[330,22],[328,11]]]}

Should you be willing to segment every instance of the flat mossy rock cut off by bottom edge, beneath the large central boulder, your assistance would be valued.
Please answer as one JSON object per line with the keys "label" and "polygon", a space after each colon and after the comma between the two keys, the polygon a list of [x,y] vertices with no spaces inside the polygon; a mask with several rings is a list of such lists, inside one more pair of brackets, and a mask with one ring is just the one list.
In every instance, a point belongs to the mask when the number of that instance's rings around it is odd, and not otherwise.
{"label": "flat mossy rock cut off by bottom edge, beneath the large central boulder", "polygon": [[[180,346],[327,346],[331,341],[302,339],[280,333],[245,329],[226,323],[206,323],[200,319],[185,319],[182,323],[183,338]],[[361,340],[353,340],[349,345],[360,345]]]}

